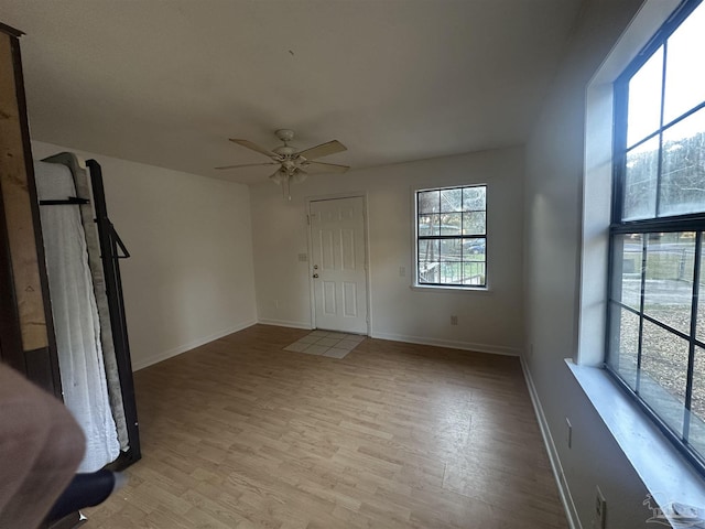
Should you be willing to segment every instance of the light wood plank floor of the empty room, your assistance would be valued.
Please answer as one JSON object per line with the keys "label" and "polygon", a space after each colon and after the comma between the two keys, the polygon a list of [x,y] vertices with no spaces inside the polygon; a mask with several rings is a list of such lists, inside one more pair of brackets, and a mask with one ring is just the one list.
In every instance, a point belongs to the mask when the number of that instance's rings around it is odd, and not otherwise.
{"label": "light wood plank floor of the empty room", "polygon": [[517,358],[256,325],[135,374],[143,460],[87,529],[567,528]]}

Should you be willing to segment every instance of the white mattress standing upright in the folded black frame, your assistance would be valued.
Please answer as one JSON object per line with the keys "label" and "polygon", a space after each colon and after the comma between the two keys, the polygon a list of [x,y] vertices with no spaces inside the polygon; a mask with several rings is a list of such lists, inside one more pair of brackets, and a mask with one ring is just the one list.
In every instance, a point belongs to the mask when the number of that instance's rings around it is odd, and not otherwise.
{"label": "white mattress standing upright in the folded black frame", "polygon": [[[34,172],[40,201],[76,195],[65,165],[35,162]],[[108,400],[84,228],[77,206],[40,206],[40,213],[64,402],[86,434],[86,456],[78,472],[94,472],[115,461],[120,446]]]}

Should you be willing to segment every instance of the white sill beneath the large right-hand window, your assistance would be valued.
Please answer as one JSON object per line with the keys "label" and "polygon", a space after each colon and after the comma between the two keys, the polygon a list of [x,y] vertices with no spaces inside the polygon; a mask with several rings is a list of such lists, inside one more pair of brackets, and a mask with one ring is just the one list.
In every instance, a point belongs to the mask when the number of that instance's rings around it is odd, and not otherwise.
{"label": "white sill beneath the large right-hand window", "polygon": [[[665,516],[674,523],[673,527],[684,527],[683,519],[672,516],[671,506],[680,503],[705,509],[705,479],[617,387],[605,369],[578,366],[570,358],[565,363],[654,499],[651,505],[654,508],[655,504],[662,506],[660,511],[652,510],[653,516]],[[701,516],[703,512],[701,510]],[[663,521],[663,518],[651,521]]]}

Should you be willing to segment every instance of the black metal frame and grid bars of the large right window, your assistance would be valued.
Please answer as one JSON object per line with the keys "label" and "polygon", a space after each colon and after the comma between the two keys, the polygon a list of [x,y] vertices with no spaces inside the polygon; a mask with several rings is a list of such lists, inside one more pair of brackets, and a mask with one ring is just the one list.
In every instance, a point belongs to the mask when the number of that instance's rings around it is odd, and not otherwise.
{"label": "black metal frame and grid bars of the large right window", "polygon": [[[608,292],[607,292],[607,333],[605,336],[605,350],[607,352],[605,368],[618,381],[619,386],[631,396],[638,406],[650,417],[664,435],[676,446],[676,449],[695,466],[695,468],[703,475],[705,475],[705,454],[696,452],[688,444],[688,430],[690,430],[690,410],[693,392],[693,377],[694,377],[694,359],[695,348],[705,348],[705,343],[698,341],[696,337],[696,324],[697,324],[697,307],[699,296],[699,279],[702,270],[702,248],[703,238],[705,237],[705,213],[679,215],[672,217],[658,217],[659,214],[659,186],[657,186],[657,212],[655,218],[648,218],[642,220],[623,222],[623,199],[625,199],[625,177],[626,177],[626,161],[628,147],[629,150],[634,149],[646,141],[654,137],[660,137],[664,130],[669,129],[676,122],[682,121],[695,111],[705,107],[705,101],[693,109],[685,112],[683,116],[677,117],[675,120],[669,123],[661,123],[658,131],[650,134],[647,138],[641,139],[633,145],[627,145],[627,110],[629,100],[629,80],[631,77],[646,64],[646,62],[652,56],[652,54],[661,46],[664,45],[666,39],[675,31],[675,29],[685,20],[685,18],[693,12],[693,10],[702,3],[702,0],[683,0],[679,8],[671,14],[666,22],[661,26],[651,41],[644,46],[644,48],[637,55],[632,63],[626,68],[621,76],[615,83],[615,130],[614,130],[614,177],[612,177],[612,219],[609,228],[609,274],[608,274]],[[665,64],[668,61],[668,48],[664,51],[664,65],[663,65],[663,85],[662,90],[665,87]],[[663,93],[661,94],[661,116],[663,116]],[[661,118],[663,121],[663,118]],[[658,161],[658,179],[661,177],[662,170],[662,147],[659,148],[659,161]],[[659,182],[658,180],[658,182]],[[694,257],[694,271],[693,271],[693,296],[691,301],[691,326],[690,333],[680,332],[670,325],[666,325],[659,320],[655,320],[646,314],[644,311],[644,282],[646,282],[646,256],[648,250],[648,236],[653,233],[676,233],[676,231],[694,231],[695,236],[695,257]],[[623,250],[620,251],[617,248],[616,239],[620,235],[626,234],[641,234],[642,236],[642,267],[641,267],[641,289],[640,289],[640,306],[639,310],[634,310],[621,300],[614,299],[615,278],[621,277],[621,256]],[[612,348],[619,347],[619,337],[611,336],[612,326],[615,324],[615,310],[626,310],[639,317],[639,334],[638,334],[638,352],[637,352],[637,379],[634,381],[634,389],[622,378],[622,376],[614,369],[609,364],[610,354]],[[617,313],[619,314],[619,313]],[[672,333],[688,343],[688,365],[686,373],[686,389],[685,389],[685,402],[684,402],[684,420],[683,420],[683,435],[680,436],[640,396],[640,377],[641,377],[641,358],[642,358],[642,343],[643,343],[643,322],[650,322],[662,330]],[[619,325],[619,324],[618,324]]]}

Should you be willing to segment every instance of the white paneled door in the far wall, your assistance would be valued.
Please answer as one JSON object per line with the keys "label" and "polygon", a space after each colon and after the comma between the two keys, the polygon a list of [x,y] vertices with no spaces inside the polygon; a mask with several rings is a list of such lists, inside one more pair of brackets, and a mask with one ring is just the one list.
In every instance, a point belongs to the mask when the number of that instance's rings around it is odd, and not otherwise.
{"label": "white paneled door in the far wall", "polygon": [[315,326],[367,334],[365,199],[314,201],[310,207]]}

